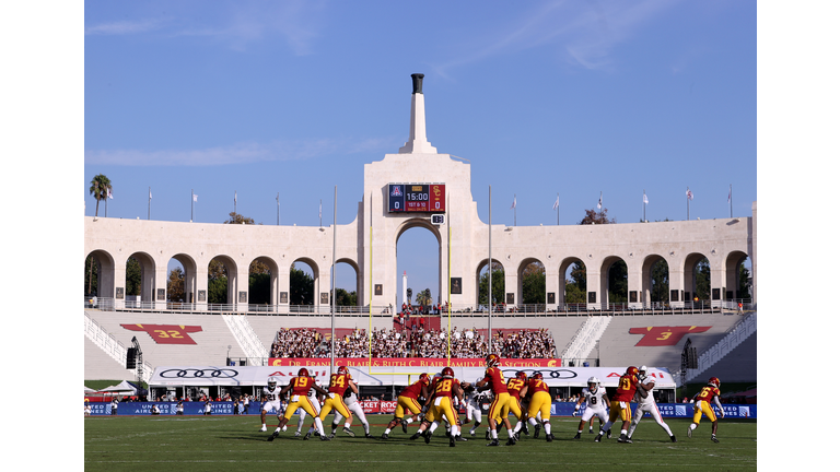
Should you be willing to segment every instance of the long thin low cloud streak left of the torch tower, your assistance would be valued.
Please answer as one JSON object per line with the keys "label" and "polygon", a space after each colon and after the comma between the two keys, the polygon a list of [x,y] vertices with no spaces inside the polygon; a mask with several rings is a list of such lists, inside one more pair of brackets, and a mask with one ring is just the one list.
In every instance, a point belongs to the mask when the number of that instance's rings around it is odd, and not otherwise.
{"label": "long thin low cloud streak left of the torch tower", "polygon": [[201,150],[89,150],[85,164],[121,166],[217,166],[317,158],[334,154],[396,152],[397,139],[320,139],[270,144],[240,143]]}

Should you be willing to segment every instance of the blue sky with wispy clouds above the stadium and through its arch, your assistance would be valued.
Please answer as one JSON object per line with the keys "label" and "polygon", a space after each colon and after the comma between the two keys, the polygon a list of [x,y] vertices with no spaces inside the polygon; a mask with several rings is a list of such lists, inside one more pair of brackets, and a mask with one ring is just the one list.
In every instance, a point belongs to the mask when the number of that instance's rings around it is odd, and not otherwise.
{"label": "blue sky with wispy clouds above the stadium and through its arch", "polygon": [[[471,163],[494,224],[579,222],[603,192],[634,223],[751,215],[757,10],[747,1],[84,2],[85,214],[317,226],[355,217],[363,165],[428,138]],[[104,209],[100,208],[100,215]],[[407,232],[398,273],[436,296],[436,241]],[[339,267],[338,286],[352,288]]]}

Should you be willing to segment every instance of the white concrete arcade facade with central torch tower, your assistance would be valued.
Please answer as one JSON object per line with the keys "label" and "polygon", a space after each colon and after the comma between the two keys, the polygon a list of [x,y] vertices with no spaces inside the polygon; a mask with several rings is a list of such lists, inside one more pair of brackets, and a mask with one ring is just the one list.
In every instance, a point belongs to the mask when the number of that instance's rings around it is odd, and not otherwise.
{"label": "white concrete arcade facade with central torch tower", "polygon": [[[418,74],[416,74],[418,75]],[[357,273],[360,306],[372,304],[381,312],[401,303],[397,273],[397,241],[412,227],[430,231],[440,244],[440,302],[455,309],[475,306],[478,280],[492,253],[504,268],[506,298],[522,299],[522,272],[532,262],[546,269],[548,309],[564,303],[564,274],[575,261],[586,268],[588,307],[607,297],[609,268],[618,260],[628,268],[628,303],[642,307],[650,302],[650,271],[654,262],[668,264],[672,306],[682,306],[693,292],[693,268],[703,257],[711,268],[712,303],[734,296],[737,268],[747,257],[752,262],[752,300],[758,302],[756,253],[757,203],[752,214],[735,219],[631,223],[609,225],[505,226],[483,223],[470,188],[470,164],[440,154],[425,138],[425,116],[420,92],[411,97],[409,140],[396,154],[364,166],[364,197],[355,220],[338,227],[198,224],[141,220],[84,217],[84,257],[93,256],[98,270],[98,296],[125,299],[126,262],[135,257],[142,268],[143,300],[166,308],[167,264],[177,259],[185,269],[185,292],[194,308],[207,308],[208,266],[224,263],[228,300],[233,309],[248,310],[248,267],[255,260],[271,270],[271,305],[288,308],[289,268],[307,263],[315,279],[315,305],[330,291],[334,232],[337,263]],[[420,76],[422,80],[422,76]],[[422,84],[422,82],[420,82]],[[422,161],[423,165],[417,165]],[[388,213],[388,184],[445,184],[446,220],[431,223],[430,213]],[[492,233],[492,234],[491,234]],[[490,249],[492,240],[492,249]],[[459,278],[462,293],[448,295],[450,278]],[[378,287],[378,290],[377,290]],[[733,292],[733,294],[727,294]],[[715,295],[716,294],[716,295]],[[328,299],[328,297],[327,297]],[[327,302],[324,305],[328,305]]]}

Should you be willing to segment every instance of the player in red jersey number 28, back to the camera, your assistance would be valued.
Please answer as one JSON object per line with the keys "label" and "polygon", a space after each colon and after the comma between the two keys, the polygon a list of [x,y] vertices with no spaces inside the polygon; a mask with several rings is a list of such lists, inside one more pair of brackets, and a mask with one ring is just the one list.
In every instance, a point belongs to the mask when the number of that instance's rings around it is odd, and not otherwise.
{"label": "player in red jersey number 28, back to the camera", "polygon": [[452,367],[444,367],[441,371],[441,377],[435,376],[431,390],[432,396],[427,398],[425,404],[423,405],[424,409],[428,408],[428,412],[423,417],[423,422],[420,424],[420,428],[410,439],[417,439],[420,436],[423,436],[425,444],[429,444],[432,434],[434,434],[434,430],[438,428],[441,421],[446,418],[451,427],[450,447],[455,447],[455,441],[459,440],[460,426],[458,414],[455,412],[453,397],[463,402],[464,390],[462,390],[458,379],[455,378],[455,373],[452,370]]}

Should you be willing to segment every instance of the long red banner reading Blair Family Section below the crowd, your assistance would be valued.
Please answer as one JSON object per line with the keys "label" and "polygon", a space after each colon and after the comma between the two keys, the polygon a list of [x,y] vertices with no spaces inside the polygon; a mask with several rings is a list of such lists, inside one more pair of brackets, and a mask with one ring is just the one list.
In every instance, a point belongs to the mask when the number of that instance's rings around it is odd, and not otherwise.
{"label": "long red banner reading Blair Family Section below the crowd", "polygon": [[[317,367],[328,366],[329,357],[271,357],[270,366],[300,366]],[[368,367],[368,357],[336,357],[337,366]],[[446,358],[429,357],[378,357],[373,359],[372,367],[483,367],[482,358],[452,358],[448,364]],[[559,358],[503,358],[501,367],[560,367]]]}

